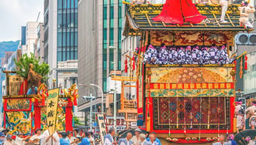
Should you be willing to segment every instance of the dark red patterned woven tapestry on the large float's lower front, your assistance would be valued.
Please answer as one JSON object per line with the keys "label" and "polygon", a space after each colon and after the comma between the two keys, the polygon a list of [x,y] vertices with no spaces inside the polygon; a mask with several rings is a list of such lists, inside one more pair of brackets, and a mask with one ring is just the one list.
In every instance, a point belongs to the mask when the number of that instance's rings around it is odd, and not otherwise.
{"label": "dark red patterned woven tapestry on the large float's lower front", "polygon": [[[230,128],[228,97],[156,97],[154,130],[206,130]],[[178,126],[178,129],[177,129]]]}

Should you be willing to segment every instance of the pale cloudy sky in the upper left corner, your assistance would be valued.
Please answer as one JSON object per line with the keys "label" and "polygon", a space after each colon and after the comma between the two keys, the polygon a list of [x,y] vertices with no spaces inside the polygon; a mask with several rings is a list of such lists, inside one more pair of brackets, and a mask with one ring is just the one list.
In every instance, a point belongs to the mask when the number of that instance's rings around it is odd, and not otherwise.
{"label": "pale cloudy sky in the upper left corner", "polygon": [[0,0],[0,42],[21,38],[26,22],[43,22],[43,0]]}

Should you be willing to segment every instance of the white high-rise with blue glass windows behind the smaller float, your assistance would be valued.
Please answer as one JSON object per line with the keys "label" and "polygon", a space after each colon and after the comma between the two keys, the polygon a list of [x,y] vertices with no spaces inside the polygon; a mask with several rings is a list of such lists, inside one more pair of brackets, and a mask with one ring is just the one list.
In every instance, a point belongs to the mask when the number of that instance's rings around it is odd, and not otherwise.
{"label": "white high-rise with blue glass windows behind the smaller float", "polygon": [[70,87],[78,79],[78,0],[44,1],[44,62],[49,86]]}

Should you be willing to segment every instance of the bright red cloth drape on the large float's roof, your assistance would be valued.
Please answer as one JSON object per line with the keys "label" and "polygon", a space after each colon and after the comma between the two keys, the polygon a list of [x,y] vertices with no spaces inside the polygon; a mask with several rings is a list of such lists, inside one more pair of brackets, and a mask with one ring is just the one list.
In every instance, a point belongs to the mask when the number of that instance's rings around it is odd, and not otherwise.
{"label": "bright red cloth drape on the large float's roof", "polygon": [[153,20],[171,24],[183,24],[191,22],[193,24],[206,19],[199,13],[192,0],[167,0],[160,15]]}

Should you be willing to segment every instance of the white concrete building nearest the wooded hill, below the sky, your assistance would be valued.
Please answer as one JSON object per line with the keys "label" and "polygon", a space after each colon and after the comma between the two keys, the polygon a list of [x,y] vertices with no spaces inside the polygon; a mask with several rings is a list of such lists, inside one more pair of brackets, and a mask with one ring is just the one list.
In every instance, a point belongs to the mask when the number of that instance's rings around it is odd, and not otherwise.
{"label": "white concrete building nearest the wooded hill, below the sky", "polygon": [[[34,53],[34,44],[37,39],[37,26],[40,22],[27,22],[26,23],[26,47],[23,44],[24,40],[21,41],[22,46],[22,55],[27,54],[30,56],[30,53]],[[23,37],[23,29],[22,27],[22,37]]]}

